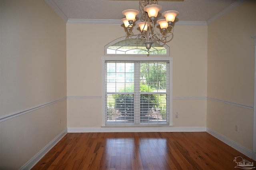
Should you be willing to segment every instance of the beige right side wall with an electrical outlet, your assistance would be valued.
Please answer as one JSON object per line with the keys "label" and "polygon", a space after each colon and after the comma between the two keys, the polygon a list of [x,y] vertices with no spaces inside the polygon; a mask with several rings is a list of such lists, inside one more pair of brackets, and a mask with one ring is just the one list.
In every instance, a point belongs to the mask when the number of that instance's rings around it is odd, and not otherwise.
{"label": "beige right side wall with an electrical outlet", "polygon": [[255,35],[255,0],[208,26],[207,96],[217,101],[207,101],[207,127],[249,150],[253,146]]}

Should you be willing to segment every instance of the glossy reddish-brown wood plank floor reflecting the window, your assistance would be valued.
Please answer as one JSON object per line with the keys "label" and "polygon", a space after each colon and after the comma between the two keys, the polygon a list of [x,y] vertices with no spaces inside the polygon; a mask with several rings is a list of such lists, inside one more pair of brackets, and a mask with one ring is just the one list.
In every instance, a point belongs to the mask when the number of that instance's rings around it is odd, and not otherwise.
{"label": "glossy reddish-brown wood plank floor reflecting the window", "polygon": [[236,156],[207,132],[68,133],[32,170],[233,170]]}

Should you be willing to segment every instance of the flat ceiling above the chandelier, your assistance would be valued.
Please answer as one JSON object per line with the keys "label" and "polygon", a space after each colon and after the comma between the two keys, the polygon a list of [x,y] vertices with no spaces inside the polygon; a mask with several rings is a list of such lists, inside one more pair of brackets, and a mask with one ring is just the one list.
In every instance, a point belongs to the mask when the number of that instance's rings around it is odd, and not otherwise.
{"label": "flat ceiling above the chandelier", "polygon": [[[89,20],[120,20],[124,18],[123,10],[139,10],[139,2],[130,0],[45,0],[62,19],[89,19]],[[207,22],[214,16],[234,4],[245,0],[184,0],[158,1],[163,7],[158,19],[164,18],[161,13],[166,10],[176,10],[180,15],[176,21]],[[236,5],[237,6],[237,5]],[[140,20],[140,16],[137,16]]]}

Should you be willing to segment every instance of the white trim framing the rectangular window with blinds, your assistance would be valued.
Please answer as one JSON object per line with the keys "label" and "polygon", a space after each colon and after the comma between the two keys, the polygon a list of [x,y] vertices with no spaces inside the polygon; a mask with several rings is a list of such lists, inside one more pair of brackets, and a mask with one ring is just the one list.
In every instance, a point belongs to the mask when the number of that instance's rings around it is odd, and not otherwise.
{"label": "white trim framing the rectangular window with blinds", "polygon": [[[101,68],[102,68],[102,127],[110,127],[106,126],[105,124],[105,61],[169,61],[169,125],[172,126],[172,69],[173,69],[173,58],[172,57],[134,57],[132,56],[115,56],[115,57],[108,57],[104,56],[101,59]],[[120,125],[121,127],[125,127],[125,125]],[[130,125],[131,126],[131,125]],[[138,125],[132,125],[132,127],[136,127]],[[143,127],[143,125],[139,125],[140,127]],[[154,125],[145,125],[145,127],[154,126]],[[166,125],[156,125],[156,126],[166,126]],[[114,126],[116,127],[116,126]]]}

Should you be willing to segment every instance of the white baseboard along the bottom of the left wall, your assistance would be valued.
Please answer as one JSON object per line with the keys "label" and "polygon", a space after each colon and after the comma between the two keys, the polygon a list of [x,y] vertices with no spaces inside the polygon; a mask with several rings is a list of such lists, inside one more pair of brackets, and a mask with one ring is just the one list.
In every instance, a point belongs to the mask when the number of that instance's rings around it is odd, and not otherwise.
{"label": "white baseboard along the bottom of the left wall", "polygon": [[63,130],[58,136],[56,136],[50,143],[48,143],[40,152],[38,152],[33,158],[31,158],[20,170],[30,170],[42,157],[55,146],[60,139],[67,134],[67,129]]}

